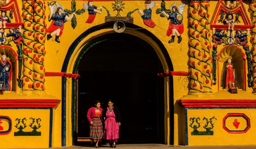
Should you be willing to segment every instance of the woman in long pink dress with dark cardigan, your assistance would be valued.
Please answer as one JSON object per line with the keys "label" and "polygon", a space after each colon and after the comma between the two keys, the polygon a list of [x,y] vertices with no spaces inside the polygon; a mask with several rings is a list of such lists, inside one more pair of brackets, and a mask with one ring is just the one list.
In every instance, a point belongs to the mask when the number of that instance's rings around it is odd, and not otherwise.
{"label": "woman in long pink dress with dark cardigan", "polygon": [[121,125],[120,112],[115,106],[113,107],[113,101],[108,100],[108,107],[102,111],[104,125],[104,139],[107,143],[110,143],[111,147],[116,147],[116,142],[119,138],[119,126]]}

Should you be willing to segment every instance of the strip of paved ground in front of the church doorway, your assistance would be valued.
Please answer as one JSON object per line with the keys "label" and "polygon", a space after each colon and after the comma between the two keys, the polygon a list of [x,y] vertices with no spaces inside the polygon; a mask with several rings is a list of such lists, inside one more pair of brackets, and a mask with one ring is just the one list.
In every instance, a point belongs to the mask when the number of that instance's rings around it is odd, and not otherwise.
{"label": "strip of paved ground in front of the church doorway", "polygon": [[[108,149],[109,146],[102,145],[102,149]],[[100,149],[99,148],[99,149]],[[256,146],[172,146],[163,144],[119,144],[118,149],[256,149]],[[54,149],[93,149],[92,146],[68,146]]]}

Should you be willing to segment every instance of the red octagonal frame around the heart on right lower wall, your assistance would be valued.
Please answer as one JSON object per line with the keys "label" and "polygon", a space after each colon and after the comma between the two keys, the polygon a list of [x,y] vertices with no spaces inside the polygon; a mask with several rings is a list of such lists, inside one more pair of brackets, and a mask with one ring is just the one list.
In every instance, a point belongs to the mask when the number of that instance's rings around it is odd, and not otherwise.
{"label": "red octagonal frame around the heart on right lower wall", "polygon": [[[227,127],[226,127],[226,119],[227,117],[230,117],[230,116],[242,116],[244,117],[245,119],[247,119],[247,127],[245,130],[241,130],[241,131],[230,131]],[[225,117],[223,117],[223,120],[222,120],[222,126],[223,126],[223,129],[226,130],[228,133],[230,134],[243,134],[245,132],[247,132],[249,129],[250,129],[250,118],[247,117],[245,114],[243,113],[228,113]]]}

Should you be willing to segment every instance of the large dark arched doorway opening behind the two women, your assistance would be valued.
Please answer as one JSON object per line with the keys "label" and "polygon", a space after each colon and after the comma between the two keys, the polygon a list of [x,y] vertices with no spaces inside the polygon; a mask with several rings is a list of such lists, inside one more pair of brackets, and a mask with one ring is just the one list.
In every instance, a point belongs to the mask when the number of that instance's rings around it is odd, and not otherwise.
{"label": "large dark arched doorway opening behind the two women", "polygon": [[112,33],[91,46],[78,66],[77,138],[89,137],[86,112],[93,100],[119,107],[120,143],[165,143],[163,66],[138,37]]}

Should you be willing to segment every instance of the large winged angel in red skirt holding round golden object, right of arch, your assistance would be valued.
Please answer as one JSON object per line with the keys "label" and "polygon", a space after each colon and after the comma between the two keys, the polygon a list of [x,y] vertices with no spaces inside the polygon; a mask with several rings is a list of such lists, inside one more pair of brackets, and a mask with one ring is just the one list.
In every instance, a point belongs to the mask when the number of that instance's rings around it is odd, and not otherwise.
{"label": "large winged angel in red skirt holding round golden object, right of arch", "polygon": [[172,13],[166,14],[165,11],[162,11],[162,14],[164,14],[168,20],[170,20],[168,31],[166,32],[166,35],[169,37],[172,34],[172,39],[169,40],[168,43],[173,43],[175,34],[178,37],[178,43],[181,42],[182,38],[181,35],[184,32],[184,26],[182,23],[183,16],[182,12],[184,11],[184,7],[186,4],[180,4],[178,8],[176,7],[176,2],[172,4],[170,7],[170,10],[172,10]]}

